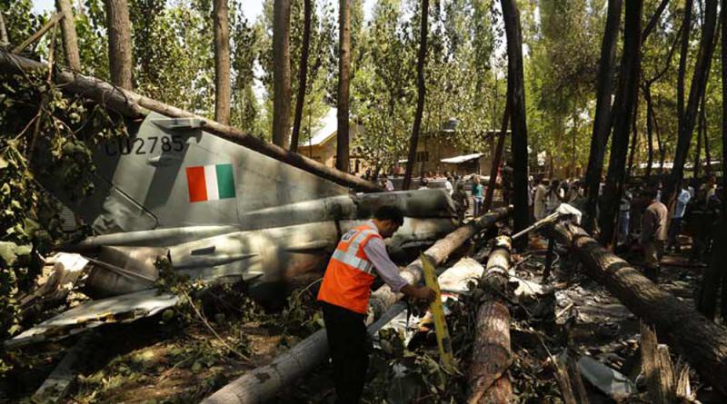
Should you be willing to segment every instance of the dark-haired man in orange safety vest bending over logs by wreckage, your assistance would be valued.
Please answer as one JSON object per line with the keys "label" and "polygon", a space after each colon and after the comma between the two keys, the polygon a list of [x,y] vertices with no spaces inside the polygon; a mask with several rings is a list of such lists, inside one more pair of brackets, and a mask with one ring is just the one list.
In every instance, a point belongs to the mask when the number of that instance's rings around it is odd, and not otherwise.
{"label": "dark-haired man in orange safety vest bending over logs by wreckage", "polygon": [[324,311],[338,403],[358,403],[364,391],[369,361],[364,318],[375,276],[392,291],[414,299],[433,301],[436,297],[431,288],[404,280],[386,252],[383,239],[391,237],[402,224],[399,208],[380,207],[372,221],[344,234],[325,270],[318,301]]}

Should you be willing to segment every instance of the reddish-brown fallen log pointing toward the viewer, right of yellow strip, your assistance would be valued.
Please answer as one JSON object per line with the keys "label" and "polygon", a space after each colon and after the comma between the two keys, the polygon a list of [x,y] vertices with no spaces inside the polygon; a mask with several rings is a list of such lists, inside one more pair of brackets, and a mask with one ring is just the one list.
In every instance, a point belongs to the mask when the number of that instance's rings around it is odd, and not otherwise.
{"label": "reddish-brown fallen log pointing toward the viewer, right of yellow strip", "polygon": [[467,372],[469,394],[467,402],[509,403],[513,387],[507,369],[513,361],[510,348],[510,310],[504,304],[504,294],[512,265],[509,237],[498,237],[487,259],[483,280],[488,286],[487,300],[477,311],[477,323],[472,362]]}

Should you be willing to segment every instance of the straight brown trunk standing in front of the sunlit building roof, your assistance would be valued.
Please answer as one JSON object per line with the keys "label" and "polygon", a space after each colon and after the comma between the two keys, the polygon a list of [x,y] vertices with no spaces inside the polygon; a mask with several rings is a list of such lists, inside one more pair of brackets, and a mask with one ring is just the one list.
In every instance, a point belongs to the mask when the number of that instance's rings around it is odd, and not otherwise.
{"label": "straight brown trunk standing in front of the sunlit building roof", "polygon": [[[348,98],[351,68],[351,3],[338,3],[338,132],[335,139],[335,167],[349,172]],[[407,189],[407,188],[404,188]]]}

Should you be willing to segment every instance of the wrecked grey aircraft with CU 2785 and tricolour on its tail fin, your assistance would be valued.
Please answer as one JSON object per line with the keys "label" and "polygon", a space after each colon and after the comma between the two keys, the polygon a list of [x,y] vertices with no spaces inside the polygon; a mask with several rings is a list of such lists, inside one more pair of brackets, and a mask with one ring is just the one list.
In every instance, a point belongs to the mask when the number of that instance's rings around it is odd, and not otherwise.
{"label": "wrecked grey aircraft with CU 2785 and tricolour on its tail fin", "polygon": [[[36,64],[0,49],[0,73]],[[5,341],[6,348],[174,306],[176,296],[155,289],[158,257],[192,280],[244,281],[254,298],[265,301],[281,298],[286,285],[302,277],[320,277],[341,235],[379,206],[398,206],[406,217],[389,241],[393,257],[418,251],[456,226],[453,202],[443,190],[354,195],[350,188],[377,188],[294,153],[283,151],[281,157],[275,154],[279,148],[252,136],[241,134],[244,141],[233,142],[240,140],[229,135],[233,128],[168,105],[161,108],[166,114],[143,113],[138,121],[141,110],[131,105],[144,97],[79,74],[60,72],[55,78],[65,91],[85,94],[136,121],[127,123],[128,139],[95,148],[91,195],[73,201],[62,178],[41,178],[95,232],[62,248],[80,256],[56,256],[55,281],[77,282],[95,300],[25,330]],[[219,135],[220,127],[227,135]]]}

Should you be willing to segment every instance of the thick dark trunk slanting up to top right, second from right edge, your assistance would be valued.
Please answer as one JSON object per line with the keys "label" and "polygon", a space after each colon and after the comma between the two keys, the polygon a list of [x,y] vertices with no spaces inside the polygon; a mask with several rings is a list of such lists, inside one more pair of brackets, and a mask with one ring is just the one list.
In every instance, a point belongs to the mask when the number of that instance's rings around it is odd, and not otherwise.
{"label": "thick dark trunk slanting up to top right, second from right edge", "polygon": [[679,138],[677,139],[676,153],[674,153],[674,166],[663,193],[666,195],[664,201],[669,202],[673,200],[677,184],[683,178],[684,163],[686,163],[689,146],[692,143],[692,132],[694,130],[697,106],[702,99],[702,93],[707,85],[710,65],[712,64],[712,53],[714,51],[713,38],[717,25],[717,0],[705,0],[704,3],[704,26],[702,27],[699,54],[694,65],[692,87],[689,89],[689,100],[687,102],[687,108],[684,111]]}

